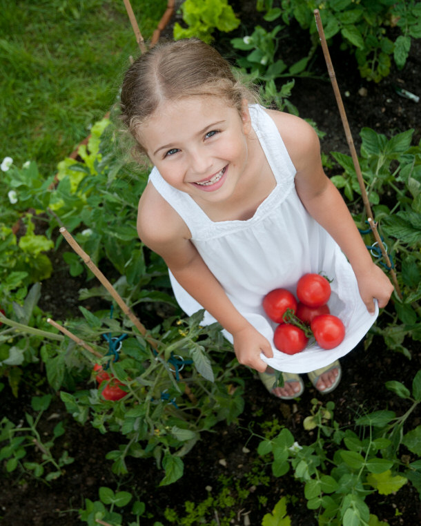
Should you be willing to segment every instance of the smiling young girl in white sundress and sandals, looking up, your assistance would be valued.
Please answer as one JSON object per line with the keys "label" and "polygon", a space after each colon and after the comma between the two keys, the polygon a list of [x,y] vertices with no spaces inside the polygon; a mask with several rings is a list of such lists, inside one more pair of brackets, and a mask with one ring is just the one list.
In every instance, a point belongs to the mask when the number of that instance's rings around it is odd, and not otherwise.
{"label": "smiling young girl in white sundress and sandals, looking up", "polygon": [[[224,327],[239,363],[275,396],[299,396],[304,372],[331,391],[337,358],[368,331],[393,286],[324,174],[313,128],[256,104],[197,39],[141,55],[126,72],[121,114],[155,165],[139,202],[139,237],[168,264],[182,309],[206,309],[204,324]],[[280,287],[295,293],[304,273],[320,271],[333,277],[329,305],[346,338],[331,351],[280,353],[262,299]],[[284,371],[284,387],[273,389],[273,369]]]}

